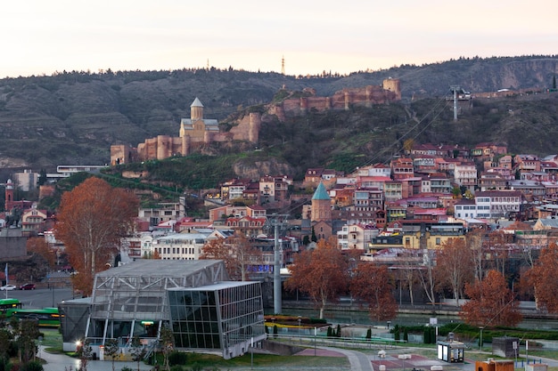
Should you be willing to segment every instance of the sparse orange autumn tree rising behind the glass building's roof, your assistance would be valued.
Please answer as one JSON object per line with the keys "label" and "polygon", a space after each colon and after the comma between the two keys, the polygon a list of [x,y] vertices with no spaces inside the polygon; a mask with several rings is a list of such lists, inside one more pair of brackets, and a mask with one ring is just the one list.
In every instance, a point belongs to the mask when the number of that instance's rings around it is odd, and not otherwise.
{"label": "sparse orange autumn tree rising behind the glass building's roof", "polygon": [[229,278],[242,281],[250,279],[253,267],[263,264],[261,251],[240,232],[229,238],[210,239],[201,247],[200,259],[224,261]]}

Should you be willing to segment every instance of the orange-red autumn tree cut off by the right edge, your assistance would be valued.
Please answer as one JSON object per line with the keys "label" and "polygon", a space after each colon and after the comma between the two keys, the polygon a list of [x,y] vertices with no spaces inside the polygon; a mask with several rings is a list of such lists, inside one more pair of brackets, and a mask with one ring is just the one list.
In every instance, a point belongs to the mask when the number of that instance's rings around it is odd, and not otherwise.
{"label": "orange-red autumn tree cut off by the right edge", "polygon": [[558,246],[551,244],[540,251],[535,266],[529,270],[528,282],[535,288],[537,308],[558,313]]}

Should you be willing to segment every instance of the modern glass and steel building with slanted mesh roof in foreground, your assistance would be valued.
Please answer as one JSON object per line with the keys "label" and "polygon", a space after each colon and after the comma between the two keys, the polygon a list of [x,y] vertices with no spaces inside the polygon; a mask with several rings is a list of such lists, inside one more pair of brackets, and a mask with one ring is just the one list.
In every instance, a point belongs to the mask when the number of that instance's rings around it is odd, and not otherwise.
{"label": "modern glass and steel building with slanted mesh roof in foreground", "polygon": [[266,338],[263,314],[260,283],[228,281],[222,261],[137,260],[95,275],[85,337],[94,351],[135,336],[155,349],[167,326],[177,349],[229,359]]}

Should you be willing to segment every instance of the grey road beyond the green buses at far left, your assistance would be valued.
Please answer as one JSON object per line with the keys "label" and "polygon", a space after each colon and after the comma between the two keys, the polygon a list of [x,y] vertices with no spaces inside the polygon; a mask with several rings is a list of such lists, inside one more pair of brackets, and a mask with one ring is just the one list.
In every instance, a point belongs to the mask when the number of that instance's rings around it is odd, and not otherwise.
{"label": "grey road beyond the green buses at far left", "polygon": [[23,309],[57,307],[64,300],[77,299],[71,288],[37,288],[35,290],[12,290],[0,292],[0,298],[20,299]]}

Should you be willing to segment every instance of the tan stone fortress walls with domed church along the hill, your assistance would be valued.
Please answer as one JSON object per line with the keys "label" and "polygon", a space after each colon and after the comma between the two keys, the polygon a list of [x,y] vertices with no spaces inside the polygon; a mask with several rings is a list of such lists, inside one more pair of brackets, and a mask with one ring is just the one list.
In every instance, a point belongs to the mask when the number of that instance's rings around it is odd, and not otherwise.
{"label": "tan stone fortress walls with domed church along the hill", "polygon": [[[316,96],[314,89],[305,89],[298,98],[287,97],[281,102],[267,105],[266,115],[274,115],[280,121],[286,117],[306,115],[308,111],[323,112],[328,109],[350,109],[351,106],[372,107],[373,104],[387,104],[400,101],[399,80],[387,78],[382,86],[368,85],[360,88],[347,88],[334,93],[331,97]],[[230,131],[219,127],[216,119],[203,117],[203,104],[196,98],[190,106],[190,118],[180,121],[177,137],[158,135],[139,143],[137,148],[124,144],[111,146],[111,165],[127,164],[149,159],[165,159],[180,155],[187,156],[200,151],[203,146],[214,142],[248,141],[258,144],[262,114],[250,112],[241,117]]]}

